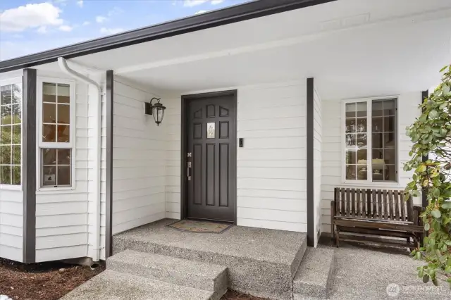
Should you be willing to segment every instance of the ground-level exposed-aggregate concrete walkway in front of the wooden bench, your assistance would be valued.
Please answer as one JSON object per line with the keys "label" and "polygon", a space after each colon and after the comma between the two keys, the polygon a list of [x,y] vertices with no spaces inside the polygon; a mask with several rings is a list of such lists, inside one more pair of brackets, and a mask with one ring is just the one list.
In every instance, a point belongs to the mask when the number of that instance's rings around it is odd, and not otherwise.
{"label": "ground-level exposed-aggregate concrete walkway in front of the wooden bench", "polygon": [[[416,275],[421,261],[407,251],[389,251],[342,243],[335,249],[335,277],[330,299],[451,299],[446,282],[435,287],[424,284]],[[387,292],[388,289],[388,292]]]}

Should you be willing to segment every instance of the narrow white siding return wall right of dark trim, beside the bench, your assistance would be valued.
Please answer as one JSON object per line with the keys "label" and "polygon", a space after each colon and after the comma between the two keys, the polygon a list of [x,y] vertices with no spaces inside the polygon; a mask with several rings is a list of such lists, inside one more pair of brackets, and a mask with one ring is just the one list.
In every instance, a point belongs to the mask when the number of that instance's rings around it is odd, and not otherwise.
{"label": "narrow white siding return wall right of dark trim, beside the bench", "polygon": [[322,151],[322,104],[319,94],[314,91],[314,244],[321,234],[321,151]]}

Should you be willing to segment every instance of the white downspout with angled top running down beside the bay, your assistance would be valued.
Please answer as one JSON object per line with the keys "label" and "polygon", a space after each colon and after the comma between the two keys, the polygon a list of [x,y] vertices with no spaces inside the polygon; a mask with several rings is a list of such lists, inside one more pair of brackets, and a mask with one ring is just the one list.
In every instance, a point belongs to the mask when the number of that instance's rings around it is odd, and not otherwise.
{"label": "white downspout with angled top running down beside the bay", "polygon": [[[101,90],[101,85],[98,82],[95,82],[94,80],[90,79],[89,77],[82,75],[78,73],[75,70],[72,70],[69,68],[68,63],[66,62],[66,59],[63,57],[58,57],[58,65],[61,68],[61,70],[70,75],[71,77],[74,77],[75,79],[78,79],[82,82],[87,83],[87,85],[94,85],[94,87],[97,87],[97,103],[96,103],[96,115],[97,118],[94,122],[94,149],[96,152],[96,165],[97,167],[94,168],[95,172],[95,180],[96,184],[94,185],[94,194],[95,194],[95,201],[96,205],[94,206],[94,228],[96,228],[97,232],[95,235],[94,240],[94,257],[92,258],[93,261],[99,261],[100,260],[100,235],[101,235],[101,228],[100,228],[100,166],[101,166],[101,96],[103,95],[103,92]],[[89,199],[88,199],[89,201]],[[89,226],[88,226],[89,227]],[[88,232],[89,235],[89,232]]]}

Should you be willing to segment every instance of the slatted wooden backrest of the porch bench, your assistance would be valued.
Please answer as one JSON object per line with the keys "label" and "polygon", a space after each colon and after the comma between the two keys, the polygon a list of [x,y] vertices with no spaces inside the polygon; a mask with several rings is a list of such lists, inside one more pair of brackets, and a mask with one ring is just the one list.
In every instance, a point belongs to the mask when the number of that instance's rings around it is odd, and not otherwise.
{"label": "slatted wooden backrest of the porch bench", "polygon": [[412,197],[404,201],[404,191],[336,187],[334,198],[338,216],[410,222],[414,218]]}

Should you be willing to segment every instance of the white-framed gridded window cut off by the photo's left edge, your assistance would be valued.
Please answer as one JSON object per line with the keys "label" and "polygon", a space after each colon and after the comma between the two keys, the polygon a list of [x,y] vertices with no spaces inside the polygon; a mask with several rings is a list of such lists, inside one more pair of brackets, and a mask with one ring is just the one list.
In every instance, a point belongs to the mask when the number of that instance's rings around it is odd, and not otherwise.
{"label": "white-framed gridded window cut off by the photo's left edge", "polygon": [[0,186],[22,182],[22,78],[0,82]]}

